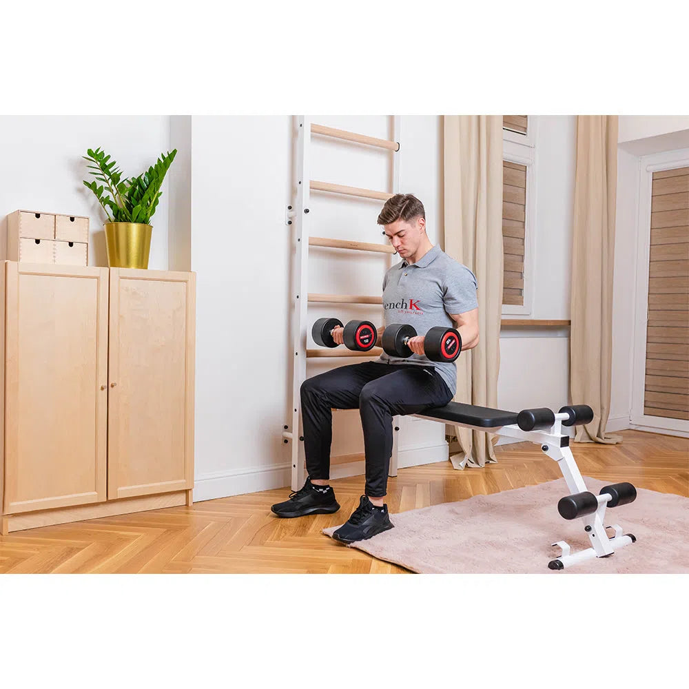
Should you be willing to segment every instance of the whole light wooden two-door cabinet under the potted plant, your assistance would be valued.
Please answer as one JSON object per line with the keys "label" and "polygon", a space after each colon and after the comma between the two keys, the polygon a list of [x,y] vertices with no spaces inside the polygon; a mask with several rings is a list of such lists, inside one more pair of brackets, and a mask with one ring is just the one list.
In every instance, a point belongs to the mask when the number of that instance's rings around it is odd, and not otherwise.
{"label": "whole light wooden two-door cabinet under the potted plant", "polygon": [[195,275],[0,265],[3,531],[188,504]]}

